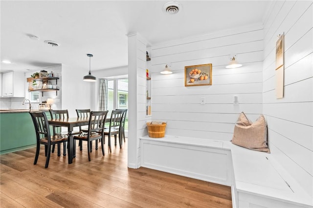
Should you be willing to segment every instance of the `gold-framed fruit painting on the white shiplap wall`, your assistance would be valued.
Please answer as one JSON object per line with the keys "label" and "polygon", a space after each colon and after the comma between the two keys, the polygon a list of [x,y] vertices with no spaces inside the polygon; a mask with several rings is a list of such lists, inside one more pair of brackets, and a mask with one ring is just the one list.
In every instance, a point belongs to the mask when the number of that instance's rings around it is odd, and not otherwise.
{"label": "gold-framed fruit painting on the white shiplap wall", "polygon": [[212,63],[185,66],[185,86],[212,85]]}

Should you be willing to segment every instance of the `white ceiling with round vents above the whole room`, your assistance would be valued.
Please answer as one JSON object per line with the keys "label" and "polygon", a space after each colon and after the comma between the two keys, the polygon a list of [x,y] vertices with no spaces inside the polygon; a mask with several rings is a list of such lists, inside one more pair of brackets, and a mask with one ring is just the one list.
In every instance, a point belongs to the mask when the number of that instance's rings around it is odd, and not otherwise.
{"label": "white ceiling with round vents above the whole room", "polygon": [[[170,0],[169,0],[170,1]],[[1,72],[67,64],[91,70],[128,64],[127,34],[151,44],[262,24],[268,0],[177,0],[178,14],[162,11],[163,0],[1,0]],[[34,41],[29,35],[39,37]],[[59,44],[52,47],[44,41]]]}

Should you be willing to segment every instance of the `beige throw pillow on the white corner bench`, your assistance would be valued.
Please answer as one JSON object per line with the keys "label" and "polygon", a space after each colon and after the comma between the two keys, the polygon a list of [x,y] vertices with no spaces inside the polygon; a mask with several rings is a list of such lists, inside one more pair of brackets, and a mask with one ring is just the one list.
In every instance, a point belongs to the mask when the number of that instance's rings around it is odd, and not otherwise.
{"label": "beige throw pillow on the white corner bench", "polygon": [[245,113],[242,112],[236,122],[231,142],[234,145],[269,153],[267,126],[264,116],[260,115],[254,123],[251,123]]}

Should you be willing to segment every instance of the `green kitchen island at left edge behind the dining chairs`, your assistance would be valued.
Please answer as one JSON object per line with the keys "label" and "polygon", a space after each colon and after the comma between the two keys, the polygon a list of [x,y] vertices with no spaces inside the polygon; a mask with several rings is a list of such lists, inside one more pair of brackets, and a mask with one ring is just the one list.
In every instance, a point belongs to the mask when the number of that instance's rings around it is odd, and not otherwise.
{"label": "green kitchen island at left edge behind the dining chairs", "polygon": [[0,110],[0,154],[35,146],[35,127],[28,110]]}

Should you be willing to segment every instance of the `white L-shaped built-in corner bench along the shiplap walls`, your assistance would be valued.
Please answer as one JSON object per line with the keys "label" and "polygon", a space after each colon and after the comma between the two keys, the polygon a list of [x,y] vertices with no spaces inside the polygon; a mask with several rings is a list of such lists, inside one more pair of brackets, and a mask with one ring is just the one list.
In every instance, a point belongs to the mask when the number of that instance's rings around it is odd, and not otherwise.
{"label": "white L-shaped built-in corner bench along the shiplap walls", "polygon": [[271,154],[230,142],[166,135],[140,138],[141,166],[231,187],[233,208],[313,208]]}

